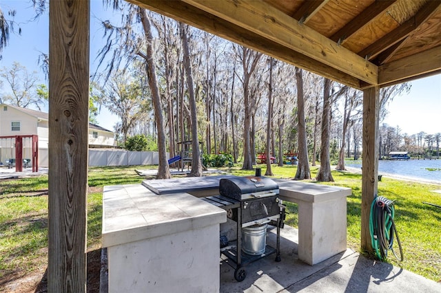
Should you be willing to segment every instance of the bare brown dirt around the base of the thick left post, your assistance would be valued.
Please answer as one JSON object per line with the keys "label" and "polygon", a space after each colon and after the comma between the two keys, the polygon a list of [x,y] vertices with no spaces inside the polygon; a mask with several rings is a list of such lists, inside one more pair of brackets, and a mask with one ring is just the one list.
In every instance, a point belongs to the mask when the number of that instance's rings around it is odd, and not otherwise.
{"label": "bare brown dirt around the base of the thick left post", "polygon": [[[98,293],[101,270],[101,248],[88,252],[87,259],[87,290],[89,293]],[[47,263],[47,260],[45,263]],[[7,280],[0,280],[0,292],[48,292],[48,270],[47,268],[41,268],[31,273],[15,272],[12,275],[10,274]]]}

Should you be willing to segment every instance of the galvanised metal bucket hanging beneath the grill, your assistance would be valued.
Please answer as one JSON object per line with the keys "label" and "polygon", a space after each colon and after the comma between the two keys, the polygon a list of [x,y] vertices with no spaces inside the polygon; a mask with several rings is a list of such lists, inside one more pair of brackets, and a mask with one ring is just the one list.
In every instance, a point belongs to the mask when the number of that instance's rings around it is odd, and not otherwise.
{"label": "galvanised metal bucket hanging beneath the grill", "polygon": [[261,255],[267,245],[268,224],[242,228],[242,251],[251,255]]}

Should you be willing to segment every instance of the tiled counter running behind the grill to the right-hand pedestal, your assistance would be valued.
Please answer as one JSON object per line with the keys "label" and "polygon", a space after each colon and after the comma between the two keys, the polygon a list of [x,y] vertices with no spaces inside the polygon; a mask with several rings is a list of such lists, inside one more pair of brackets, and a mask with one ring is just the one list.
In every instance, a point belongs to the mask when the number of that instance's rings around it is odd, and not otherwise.
{"label": "tiled counter running behind the grill to the right-hand pedestal", "polygon": [[[188,192],[207,197],[219,193],[223,176],[178,178],[173,182],[144,180],[143,185],[160,194]],[[351,188],[273,180],[278,184],[281,199],[298,204],[298,258],[301,261],[315,265],[347,249],[346,197],[351,195]]]}

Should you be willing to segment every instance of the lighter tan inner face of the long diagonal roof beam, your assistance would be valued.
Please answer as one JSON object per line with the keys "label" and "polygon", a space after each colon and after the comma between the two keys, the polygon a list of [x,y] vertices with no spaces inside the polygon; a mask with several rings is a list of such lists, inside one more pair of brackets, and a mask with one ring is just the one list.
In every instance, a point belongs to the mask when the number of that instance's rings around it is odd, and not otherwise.
{"label": "lighter tan inner face of the long diagonal roof beam", "polygon": [[376,65],[263,1],[183,1],[371,85],[378,83]]}

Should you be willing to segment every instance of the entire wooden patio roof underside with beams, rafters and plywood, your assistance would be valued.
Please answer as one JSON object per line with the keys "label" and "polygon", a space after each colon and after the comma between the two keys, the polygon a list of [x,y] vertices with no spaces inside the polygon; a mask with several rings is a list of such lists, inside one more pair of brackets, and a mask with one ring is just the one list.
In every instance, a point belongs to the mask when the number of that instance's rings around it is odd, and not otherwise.
{"label": "entire wooden patio roof underside with beams, rafters and plywood", "polygon": [[128,0],[357,89],[441,72],[441,1]]}

